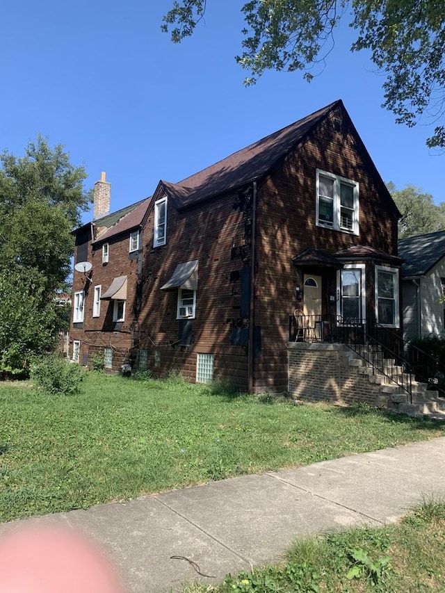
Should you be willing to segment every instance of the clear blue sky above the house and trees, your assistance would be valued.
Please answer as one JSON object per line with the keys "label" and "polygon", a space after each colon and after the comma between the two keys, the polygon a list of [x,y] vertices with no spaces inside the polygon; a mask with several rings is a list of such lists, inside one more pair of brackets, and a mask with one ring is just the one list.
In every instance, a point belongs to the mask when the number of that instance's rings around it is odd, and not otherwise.
{"label": "clear blue sky above the house and trees", "polygon": [[[414,184],[445,200],[445,156],[425,145],[432,130],[397,125],[382,110],[382,76],[351,54],[342,26],[320,76],[265,74],[245,88],[236,65],[243,19],[237,0],[208,0],[195,35],[161,33],[172,0],[16,0],[2,7],[0,149],[17,156],[37,133],[85,163],[86,188],[106,171],[111,209],[180,181],[343,99],[385,181]],[[83,217],[84,222],[90,215]]]}

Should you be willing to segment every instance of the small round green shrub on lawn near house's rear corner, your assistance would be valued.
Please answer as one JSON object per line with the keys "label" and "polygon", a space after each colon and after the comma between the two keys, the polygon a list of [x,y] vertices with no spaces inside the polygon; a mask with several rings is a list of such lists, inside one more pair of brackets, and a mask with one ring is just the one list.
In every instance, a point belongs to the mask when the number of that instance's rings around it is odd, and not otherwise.
{"label": "small round green shrub on lawn near house's rear corner", "polygon": [[58,354],[37,359],[31,368],[31,377],[47,393],[72,395],[81,387],[84,371],[77,364],[67,362]]}

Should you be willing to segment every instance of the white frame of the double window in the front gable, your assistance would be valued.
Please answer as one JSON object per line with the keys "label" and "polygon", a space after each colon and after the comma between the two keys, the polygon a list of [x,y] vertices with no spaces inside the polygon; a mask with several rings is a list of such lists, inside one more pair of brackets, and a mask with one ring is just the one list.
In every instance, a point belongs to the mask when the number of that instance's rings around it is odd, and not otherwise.
{"label": "white frame of the double window in the front gable", "polygon": [[[319,220],[320,214],[320,176],[327,177],[334,181],[333,185],[333,221],[332,224]],[[347,227],[341,226],[341,184],[350,186],[353,188],[353,227],[348,229]],[[333,173],[323,171],[321,169],[316,170],[316,190],[315,190],[315,216],[316,226],[323,227],[325,229],[332,229],[334,231],[341,231],[342,233],[348,233],[351,235],[359,234],[359,184],[358,181],[352,179],[346,179],[340,175],[334,175]]]}

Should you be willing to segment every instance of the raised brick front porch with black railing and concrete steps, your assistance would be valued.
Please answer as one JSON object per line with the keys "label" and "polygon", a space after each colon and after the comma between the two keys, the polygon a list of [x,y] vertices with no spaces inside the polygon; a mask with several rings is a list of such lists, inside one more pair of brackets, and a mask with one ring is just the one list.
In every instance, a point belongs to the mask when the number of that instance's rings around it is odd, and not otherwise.
{"label": "raised brick front porch with black railing and concrete steps", "polygon": [[289,316],[288,355],[293,397],[390,409],[435,400],[432,407],[445,412],[437,360],[375,320],[307,316],[296,309]]}

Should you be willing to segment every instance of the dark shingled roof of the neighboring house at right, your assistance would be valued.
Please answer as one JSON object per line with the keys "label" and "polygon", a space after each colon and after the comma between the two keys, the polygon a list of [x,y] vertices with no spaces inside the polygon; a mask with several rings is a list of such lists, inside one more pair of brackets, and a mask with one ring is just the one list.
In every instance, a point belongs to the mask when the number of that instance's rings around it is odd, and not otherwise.
{"label": "dark shingled roof of the neighboring house at right", "polygon": [[402,276],[423,276],[445,256],[445,231],[400,239],[398,254],[405,260]]}

